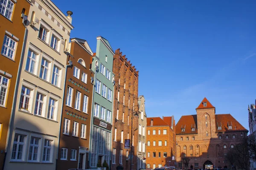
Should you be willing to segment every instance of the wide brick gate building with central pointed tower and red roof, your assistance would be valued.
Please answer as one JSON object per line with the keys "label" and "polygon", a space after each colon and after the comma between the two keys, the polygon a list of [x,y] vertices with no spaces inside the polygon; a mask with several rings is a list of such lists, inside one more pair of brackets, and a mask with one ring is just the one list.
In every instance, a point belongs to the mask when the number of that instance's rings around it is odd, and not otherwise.
{"label": "wide brick gate building with central pointed tower and red roof", "polygon": [[[215,107],[206,98],[195,110],[195,115],[181,116],[176,125],[177,167],[231,168],[224,156],[243,141],[248,130],[230,114],[215,114]],[[190,158],[187,167],[184,157]]]}

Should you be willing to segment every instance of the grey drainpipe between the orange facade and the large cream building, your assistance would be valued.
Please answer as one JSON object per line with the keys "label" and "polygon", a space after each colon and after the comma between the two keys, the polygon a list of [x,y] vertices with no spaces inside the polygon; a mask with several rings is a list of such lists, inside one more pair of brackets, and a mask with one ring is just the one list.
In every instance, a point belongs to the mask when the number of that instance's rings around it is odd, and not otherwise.
{"label": "grey drainpipe between the orange facade and the large cream building", "polygon": [[[24,25],[24,24],[23,24]],[[21,69],[22,69],[22,65],[23,65],[23,59],[24,59],[24,53],[25,53],[25,48],[26,48],[26,41],[27,41],[27,36],[28,36],[28,28],[25,26],[25,34],[24,34],[24,38],[23,38],[23,45],[22,45],[22,50],[21,50],[21,55],[20,55],[20,64],[19,64],[19,68],[18,68],[18,72],[17,72],[17,79],[15,82],[15,89],[14,89],[14,94],[13,94],[13,100],[12,100],[12,110],[11,110],[11,116],[10,116],[10,120],[9,120],[9,127],[8,127],[8,132],[7,132],[7,139],[6,139],[6,147],[5,147],[5,153],[4,153],[4,158],[3,158],[3,167],[2,170],[4,169],[4,165],[5,165],[5,161],[6,161],[6,155],[7,155],[7,149],[8,149],[8,145],[9,145],[9,140],[11,138],[11,127],[12,127],[12,123],[13,123],[13,119],[15,116],[15,108],[16,108],[16,102],[17,102],[17,93],[18,93],[18,86],[19,86],[19,82],[20,82],[20,73],[21,73]]]}

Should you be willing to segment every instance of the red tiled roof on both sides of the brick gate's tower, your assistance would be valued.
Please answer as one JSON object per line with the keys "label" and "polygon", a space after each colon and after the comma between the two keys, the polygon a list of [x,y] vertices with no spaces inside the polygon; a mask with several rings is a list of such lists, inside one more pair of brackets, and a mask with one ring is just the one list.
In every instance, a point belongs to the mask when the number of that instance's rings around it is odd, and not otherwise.
{"label": "red tiled roof on both sides of the brick gate's tower", "polygon": [[[195,131],[192,131],[192,127],[195,125]],[[228,125],[232,125],[232,129],[228,129]],[[218,130],[218,126],[221,126],[221,130]],[[197,115],[181,116],[177,123],[176,134],[195,134],[198,133]],[[235,132],[235,131],[247,131],[231,114],[215,114],[215,132]],[[181,129],[185,128],[185,132]]]}

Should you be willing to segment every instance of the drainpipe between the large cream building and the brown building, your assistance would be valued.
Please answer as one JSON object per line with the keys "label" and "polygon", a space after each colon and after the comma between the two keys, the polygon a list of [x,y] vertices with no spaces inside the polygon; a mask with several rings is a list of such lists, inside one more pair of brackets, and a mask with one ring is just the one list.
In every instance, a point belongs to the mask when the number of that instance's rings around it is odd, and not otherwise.
{"label": "drainpipe between the large cream building and the brown building", "polygon": [[[68,55],[68,53],[67,53]],[[68,61],[68,65],[66,65],[65,69],[65,78],[64,78],[64,88],[63,88],[63,95],[62,95],[62,103],[61,103],[61,118],[60,118],[60,125],[59,125],[59,135],[58,135],[58,144],[57,144],[57,154],[56,154],[56,164],[55,164],[55,170],[57,170],[57,161],[58,161],[58,151],[60,146],[60,140],[61,140],[61,124],[62,124],[62,115],[63,115],[63,105],[64,105],[64,97],[65,97],[65,89],[66,89],[66,80],[67,80],[67,68],[72,67],[73,62],[71,60]]]}

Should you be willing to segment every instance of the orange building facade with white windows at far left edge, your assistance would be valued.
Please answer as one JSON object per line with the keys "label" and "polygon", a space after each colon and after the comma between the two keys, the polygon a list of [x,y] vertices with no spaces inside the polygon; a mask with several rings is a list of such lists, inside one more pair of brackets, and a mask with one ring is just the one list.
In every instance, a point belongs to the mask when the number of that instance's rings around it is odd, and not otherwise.
{"label": "orange building facade with white windows at far left edge", "polygon": [[[28,0],[0,2],[0,169],[6,155],[6,140],[15,96],[15,85],[27,23]],[[17,93],[17,92],[16,92]]]}

